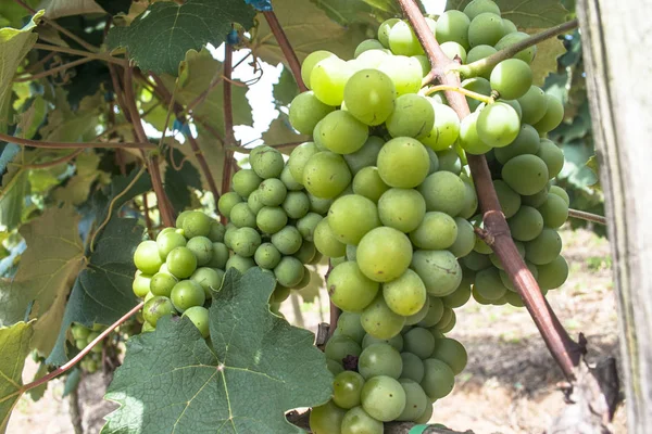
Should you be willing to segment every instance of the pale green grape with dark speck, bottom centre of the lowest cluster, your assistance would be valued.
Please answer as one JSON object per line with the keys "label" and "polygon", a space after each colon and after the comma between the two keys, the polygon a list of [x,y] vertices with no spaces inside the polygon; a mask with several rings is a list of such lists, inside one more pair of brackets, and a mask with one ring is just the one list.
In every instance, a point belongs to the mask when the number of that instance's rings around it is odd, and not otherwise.
{"label": "pale green grape with dark speck, bottom centre of the lowest cluster", "polygon": [[367,380],[362,388],[362,408],[372,418],[389,422],[405,408],[405,391],[397,380],[387,375]]}

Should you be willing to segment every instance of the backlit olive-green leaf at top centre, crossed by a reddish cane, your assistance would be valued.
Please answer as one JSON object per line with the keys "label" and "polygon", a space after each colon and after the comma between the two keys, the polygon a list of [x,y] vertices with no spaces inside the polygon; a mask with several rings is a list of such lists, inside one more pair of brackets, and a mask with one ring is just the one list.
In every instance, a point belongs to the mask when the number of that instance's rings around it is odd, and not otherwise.
{"label": "backlit olive-green leaf at top centre, crossed by a reddish cane", "polygon": [[[351,59],[355,47],[367,39],[366,30],[375,33],[374,28],[362,23],[342,27],[310,1],[276,0],[274,12],[300,61],[315,50],[328,50],[342,59]],[[262,60],[285,64],[280,47],[264,18],[260,20],[252,42],[254,53]]]}

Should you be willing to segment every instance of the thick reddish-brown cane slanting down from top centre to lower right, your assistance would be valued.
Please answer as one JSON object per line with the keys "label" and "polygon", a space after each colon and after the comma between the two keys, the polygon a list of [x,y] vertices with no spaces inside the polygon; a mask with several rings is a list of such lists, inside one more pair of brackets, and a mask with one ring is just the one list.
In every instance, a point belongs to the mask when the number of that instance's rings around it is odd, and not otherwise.
{"label": "thick reddish-brown cane slanting down from top centre to lower right", "polygon": [[[430,79],[438,79],[442,85],[459,88],[461,86],[457,72],[460,65],[443,53],[417,4],[413,0],[398,0],[398,2],[428,56],[432,68]],[[466,98],[462,93],[447,90],[446,97],[460,119],[471,114]],[[467,158],[484,213],[485,230],[493,237],[493,242],[489,245],[499,257],[505,272],[510,276],[510,280],[523,298],[535,324],[543,336],[548,349],[564,375],[569,380],[575,379],[574,367],[579,365],[582,348],[568,336],[566,330],[561,326],[547,304],[537,281],[518,254],[493,189],[491,173],[485,155],[469,154]]]}

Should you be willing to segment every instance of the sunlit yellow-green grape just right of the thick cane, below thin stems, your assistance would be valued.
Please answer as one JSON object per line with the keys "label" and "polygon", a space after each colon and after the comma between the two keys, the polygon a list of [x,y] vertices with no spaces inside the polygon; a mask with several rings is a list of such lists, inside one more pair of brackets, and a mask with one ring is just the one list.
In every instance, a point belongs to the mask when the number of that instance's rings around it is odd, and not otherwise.
{"label": "sunlit yellow-green grape just right of the thick cane, below thin stems", "polygon": [[480,111],[476,128],[478,137],[485,144],[491,148],[503,148],[518,136],[521,120],[510,104],[497,102]]}

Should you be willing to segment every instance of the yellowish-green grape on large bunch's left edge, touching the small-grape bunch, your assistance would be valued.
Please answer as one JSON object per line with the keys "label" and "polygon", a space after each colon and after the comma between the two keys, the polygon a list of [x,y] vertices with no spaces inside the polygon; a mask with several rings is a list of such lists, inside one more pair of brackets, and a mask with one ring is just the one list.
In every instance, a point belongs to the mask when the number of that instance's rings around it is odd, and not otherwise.
{"label": "yellowish-green grape on large bunch's left edge, touching the small-grape bunch", "polygon": [[351,182],[351,171],[341,155],[333,152],[314,154],[303,170],[303,186],[321,199],[333,199]]}

